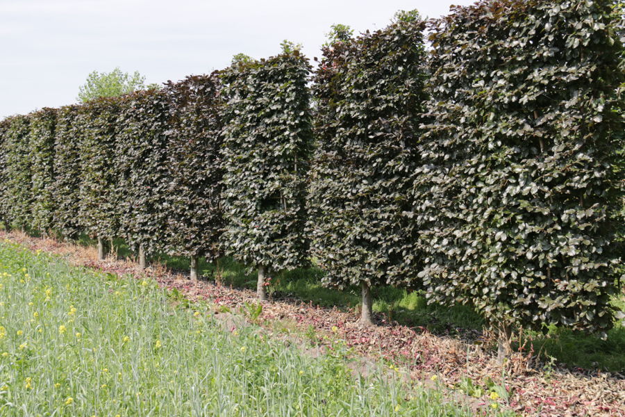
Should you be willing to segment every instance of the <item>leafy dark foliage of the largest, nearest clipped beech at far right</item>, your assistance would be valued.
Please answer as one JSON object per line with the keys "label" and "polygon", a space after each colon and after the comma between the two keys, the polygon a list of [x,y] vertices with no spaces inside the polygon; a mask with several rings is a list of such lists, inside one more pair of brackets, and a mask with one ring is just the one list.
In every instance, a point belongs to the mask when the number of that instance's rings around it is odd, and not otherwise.
{"label": "leafy dark foliage of the largest, nearest clipped beech at far right", "polygon": [[431,27],[415,217],[429,300],[472,303],[504,332],[612,326],[623,73],[611,3],[480,1]]}

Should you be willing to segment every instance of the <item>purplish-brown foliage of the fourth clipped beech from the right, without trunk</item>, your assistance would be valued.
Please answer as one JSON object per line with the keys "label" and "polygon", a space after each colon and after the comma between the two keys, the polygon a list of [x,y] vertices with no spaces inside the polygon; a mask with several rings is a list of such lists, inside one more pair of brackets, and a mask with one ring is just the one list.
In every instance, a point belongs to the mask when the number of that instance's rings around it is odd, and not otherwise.
{"label": "purplish-brown foliage of the fourth clipped beech from the right, without trunk", "polygon": [[189,76],[167,85],[169,149],[167,190],[169,252],[185,256],[219,255],[224,226],[221,207],[222,122],[217,75]]}

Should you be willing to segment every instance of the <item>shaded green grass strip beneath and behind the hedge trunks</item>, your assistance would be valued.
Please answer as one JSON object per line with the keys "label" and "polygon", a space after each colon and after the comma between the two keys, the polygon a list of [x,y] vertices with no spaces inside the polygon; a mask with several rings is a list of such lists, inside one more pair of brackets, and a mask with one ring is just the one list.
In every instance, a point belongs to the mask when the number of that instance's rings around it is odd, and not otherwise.
{"label": "shaded green grass strip beneath and behind the hedge trunks", "polygon": [[[89,240],[83,243],[94,245]],[[120,256],[133,256],[122,240],[116,240]],[[188,270],[189,260],[181,256],[155,256],[155,260],[164,263],[169,268]],[[203,275],[215,279],[216,266],[206,261],[200,261],[200,270]],[[244,265],[231,258],[219,261],[219,270],[225,285],[235,288],[256,288],[256,271],[249,271]],[[278,297],[292,296],[303,302],[313,302],[320,306],[338,306],[349,309],[358,306],[360,293],[358,288],[347,288],[338,291],[324,288],[321,284],[323,272],[319,268],[298,269],[282,272],[274,277],[272,291]],[[425,298],[417,293],[393,287],[374,288],[374,311],[385,313],[393,320],[403,325],[426,327],[436,334],[456,334],[460,329],[482,329],[482,318],[470,307],[456,305],[452,307],[437,304],[428,305]],[[615,306],[625,309],[623,297],[615,297]],[[601,340],[598,336],[572,332],[569,329],[555,326],[547,329],[547,334],[524,332],[524,340],[529,347],[533,344],[535,352],[540,352],[544,361],[555,359],[570,367],[585,369],[601,369],[608,371],[622,371],[625,369],[625,327],[622,322],[616,322],[614,329],[608,332],[608,338]]]}

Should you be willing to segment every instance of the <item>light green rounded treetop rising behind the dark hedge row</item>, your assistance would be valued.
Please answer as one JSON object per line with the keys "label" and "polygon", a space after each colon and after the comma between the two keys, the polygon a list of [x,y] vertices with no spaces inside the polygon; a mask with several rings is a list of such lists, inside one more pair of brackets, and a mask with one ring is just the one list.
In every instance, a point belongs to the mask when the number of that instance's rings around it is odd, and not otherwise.
{"label": "light green rounded treetop rising behind the dark hedge row", "polygon": [[136,90],[159,87],[158,84],[145,85],[145,76],[138,71],[129,74],[116,67],[111,72],[94,71],[89,74],[85,84],[78,89],[78,101],[85,103],[99,97],[116,97]]}

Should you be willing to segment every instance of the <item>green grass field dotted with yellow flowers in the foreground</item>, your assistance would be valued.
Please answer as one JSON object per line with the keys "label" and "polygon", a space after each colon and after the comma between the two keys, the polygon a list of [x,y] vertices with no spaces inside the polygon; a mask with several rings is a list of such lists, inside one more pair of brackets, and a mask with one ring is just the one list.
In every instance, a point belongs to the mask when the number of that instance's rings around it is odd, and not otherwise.
{"label": "green grass field dotted with yellow flowers in the foreground", "polygon": [[[389,371],[353,377],[153,281],[0,243],[1,416],[470,416]],[[191,305],[192,309],[183,308]]]}

